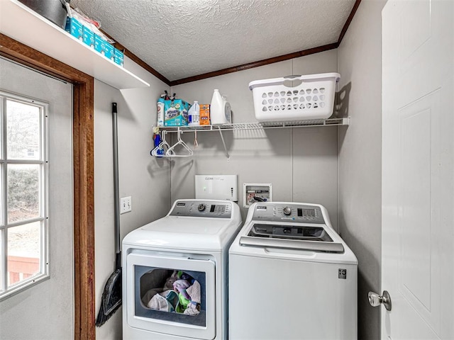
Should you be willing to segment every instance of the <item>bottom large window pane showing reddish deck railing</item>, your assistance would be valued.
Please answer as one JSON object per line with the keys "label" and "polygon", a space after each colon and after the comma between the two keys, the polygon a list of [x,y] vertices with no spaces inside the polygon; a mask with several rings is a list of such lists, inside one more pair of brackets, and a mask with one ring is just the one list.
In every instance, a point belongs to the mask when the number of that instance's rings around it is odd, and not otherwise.
{"label": "bottom large window pane showing reddish deck railing", "polygon": [[8,286],[40,273],[41,222],[8,229]]}

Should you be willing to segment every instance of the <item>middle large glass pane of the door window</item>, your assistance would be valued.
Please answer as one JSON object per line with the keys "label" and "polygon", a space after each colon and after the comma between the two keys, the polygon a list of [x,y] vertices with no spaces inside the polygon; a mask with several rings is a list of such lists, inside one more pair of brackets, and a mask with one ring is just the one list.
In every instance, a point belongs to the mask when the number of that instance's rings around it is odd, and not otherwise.
{"label": "middle large glass pane of the door window", "polygon": [[8,222],[39,217],[39,164],[8,164]]}

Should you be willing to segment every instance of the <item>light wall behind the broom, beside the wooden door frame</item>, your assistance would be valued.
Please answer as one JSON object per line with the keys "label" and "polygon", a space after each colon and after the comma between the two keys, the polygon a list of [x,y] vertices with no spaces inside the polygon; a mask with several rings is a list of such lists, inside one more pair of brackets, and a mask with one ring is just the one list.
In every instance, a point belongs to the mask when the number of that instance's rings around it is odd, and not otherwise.
{"label": "light wall behind the broom, beside the wooden door frame", "polygon": [[[126,59],[125,67],[148,81],[150,88],[118,91],[94,84],[94,207],[96,314],[106,280],[114,272],[114,174],[111,103],[118,103],[118,162],[120,197],[132,197],[132,211],[121,215],[121,239],[131,230],[170,210],[170,166],[150,156],[156,99],[169,86]],[[103,326],[96,339],[122,339],[121,309]]]}

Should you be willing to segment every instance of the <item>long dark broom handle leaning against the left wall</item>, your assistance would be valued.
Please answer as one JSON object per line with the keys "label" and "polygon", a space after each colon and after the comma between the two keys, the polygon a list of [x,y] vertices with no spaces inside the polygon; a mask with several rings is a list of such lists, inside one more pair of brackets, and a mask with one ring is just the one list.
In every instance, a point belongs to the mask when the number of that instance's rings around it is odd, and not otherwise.
{"label": "long dark broom handle leaning against the left wall", "polygon": [[120,193],[118,188],[118,126],[117,126],[117,108],[116,103],[112,103],[112,129],[114,138],[114,205],[115,205],[115,268],[121,268],[120,253]]}

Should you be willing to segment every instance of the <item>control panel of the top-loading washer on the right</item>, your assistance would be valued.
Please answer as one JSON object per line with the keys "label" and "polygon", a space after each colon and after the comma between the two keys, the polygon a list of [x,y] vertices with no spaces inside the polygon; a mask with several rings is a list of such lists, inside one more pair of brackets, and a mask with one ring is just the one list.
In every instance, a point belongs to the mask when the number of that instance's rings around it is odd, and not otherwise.
{"label": "control panel of the top-loading washer on the right", "polygon": [[257,203],[254,208],[253,220],[325,224],[323,213],[318,205],[295,203]]}

